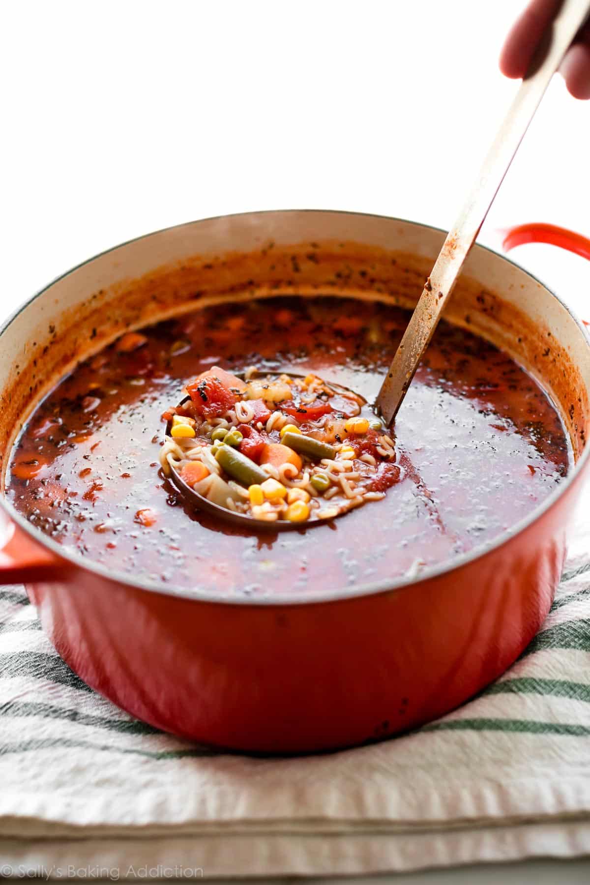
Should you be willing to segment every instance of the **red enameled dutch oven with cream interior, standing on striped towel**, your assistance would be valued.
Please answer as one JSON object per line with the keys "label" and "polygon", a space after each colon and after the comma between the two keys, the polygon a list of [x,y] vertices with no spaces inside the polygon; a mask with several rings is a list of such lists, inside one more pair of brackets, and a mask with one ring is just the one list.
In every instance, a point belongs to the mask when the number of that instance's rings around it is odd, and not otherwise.
{"label": "red enameled dutch oven with cream interior, standing on striped towel", "polygon": [[[341,290],[411,306],[443,239],[400,219],[257,212],[174,227],[91,259],[0,332],[3,475],[34,403],[123,328],[194,309],[203,298],[254,293]],[[548,226],[515,228],[505,242],[531,240],[590,258],[590,242]],[[349,270],[359,261],[372,277],[353,285]],[[481,246],[448,318],[509,350],[551,391],[577,462],[529,519],[486,549],[411,580],[329,594],[187,596],[69,553],[3,497],[0,581],[26,584],[51,642],[89,686],[139,719],[202,743],[334,749],[462,704],[510,666],[551,604],[590,457],[590,343],[554,294]]]}

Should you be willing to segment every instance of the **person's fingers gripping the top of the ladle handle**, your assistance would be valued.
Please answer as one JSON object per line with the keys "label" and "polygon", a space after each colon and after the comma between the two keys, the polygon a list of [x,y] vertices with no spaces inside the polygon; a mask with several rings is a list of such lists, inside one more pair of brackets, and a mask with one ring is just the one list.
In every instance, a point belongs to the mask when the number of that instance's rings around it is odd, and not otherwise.
{"label": "person's fingers gripping the top of the ladle handle", "polygon": [[[517,79],[525,75],[541,36],[560,6],[561,0],[530,0],[502,46],[500,70],[505,76]],[[590,98],[590,20],[572,43],[559,70],[574,98]]]}

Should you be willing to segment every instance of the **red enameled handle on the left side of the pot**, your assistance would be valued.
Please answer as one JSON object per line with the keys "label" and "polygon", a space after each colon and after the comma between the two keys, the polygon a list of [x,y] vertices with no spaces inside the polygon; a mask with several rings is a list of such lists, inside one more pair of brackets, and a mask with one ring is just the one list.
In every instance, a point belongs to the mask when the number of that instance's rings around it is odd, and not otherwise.
{"label": "red enameled handle on the left side of the pot", "polygon": [[57,581],[72,567],[29,538],[0,511],[0,585]]}

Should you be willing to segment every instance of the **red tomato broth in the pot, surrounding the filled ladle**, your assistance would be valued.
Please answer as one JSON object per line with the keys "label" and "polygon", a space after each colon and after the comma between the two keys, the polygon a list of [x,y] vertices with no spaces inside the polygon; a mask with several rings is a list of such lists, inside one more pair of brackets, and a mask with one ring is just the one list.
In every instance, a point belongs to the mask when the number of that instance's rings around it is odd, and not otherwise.
{"label": "red tomato broth in the pot, surrounding the filled ladle", "polygon": [[[343,328],[351,315],[355,328]],[[187,591],[312,594],[490,542],[566,475],[571,446],[514,360],[444,321],[396,419],[403,475],[383,501],[333,525],[256,536],[194,512],[159,472],[162,413],[195,374],[212,364],[314,372],[372,401],[408,317],[377,302],[293,296],[143,328],[146,342],[115,343],[38,406],[13,451],[7,495],[69,549]]]}

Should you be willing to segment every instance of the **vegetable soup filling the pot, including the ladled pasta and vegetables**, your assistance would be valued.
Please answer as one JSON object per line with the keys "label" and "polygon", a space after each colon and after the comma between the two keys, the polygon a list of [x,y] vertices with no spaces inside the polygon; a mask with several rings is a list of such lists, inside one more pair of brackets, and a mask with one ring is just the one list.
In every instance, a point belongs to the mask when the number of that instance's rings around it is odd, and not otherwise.
{"label": "vegetable soup filling the pot, including the ladled pasta and vegetables", "polygon": [[[570,442],[522,367],[445,321],[387,431],[371,404],[409,316],[280,296],[128,332],[37,407],[7,495],[69,550],[188,593],[312,595],[490,543],[567,474]],[[269,527],[195,510],[172,470]]]}

